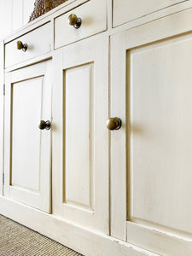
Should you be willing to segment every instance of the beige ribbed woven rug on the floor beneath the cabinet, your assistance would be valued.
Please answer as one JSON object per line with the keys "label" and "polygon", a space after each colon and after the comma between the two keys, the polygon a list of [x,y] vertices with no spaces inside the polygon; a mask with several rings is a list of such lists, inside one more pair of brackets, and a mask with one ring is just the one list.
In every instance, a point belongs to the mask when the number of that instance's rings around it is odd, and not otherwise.
{"label": "beige ribbed woven rug on the floor beneath the cabinet", "polygon": [[80,256],[81,254],[0,215],[1,256]]}

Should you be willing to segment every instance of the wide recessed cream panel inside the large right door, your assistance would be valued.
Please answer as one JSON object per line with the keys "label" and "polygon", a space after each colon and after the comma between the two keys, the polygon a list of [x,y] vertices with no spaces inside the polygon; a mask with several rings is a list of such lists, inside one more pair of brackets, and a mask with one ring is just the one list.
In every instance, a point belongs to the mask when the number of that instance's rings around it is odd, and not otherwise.
{"label": "wide recessed cream panel inside the large right door", "polygon": [[130,216],[192,232],[191,35],[127,53]]}

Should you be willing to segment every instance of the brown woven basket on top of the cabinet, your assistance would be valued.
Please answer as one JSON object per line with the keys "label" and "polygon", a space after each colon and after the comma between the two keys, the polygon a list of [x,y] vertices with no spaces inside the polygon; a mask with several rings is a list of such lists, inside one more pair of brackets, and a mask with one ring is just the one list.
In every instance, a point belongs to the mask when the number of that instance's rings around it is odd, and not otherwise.
{"label": "brown woven basket on top of the cabinet", "polygon": [[54,9],[66,1],[67,0],[36,0],[32,15],[29,17],[29,22],[35,20],[41,15],[44,15],[45,13],[49,12],[49,10]]}

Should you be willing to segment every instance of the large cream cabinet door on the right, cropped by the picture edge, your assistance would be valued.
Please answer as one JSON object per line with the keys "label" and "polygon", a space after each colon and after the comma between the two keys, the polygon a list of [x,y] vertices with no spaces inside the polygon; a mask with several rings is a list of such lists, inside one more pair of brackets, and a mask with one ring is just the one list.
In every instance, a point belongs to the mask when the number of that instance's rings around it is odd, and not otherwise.
{"label": "large cream cabinet door on the right, cropped by the picture edge", "polygon": [[112,235],[160,255],[192,255],[191,15],[111,38]]}

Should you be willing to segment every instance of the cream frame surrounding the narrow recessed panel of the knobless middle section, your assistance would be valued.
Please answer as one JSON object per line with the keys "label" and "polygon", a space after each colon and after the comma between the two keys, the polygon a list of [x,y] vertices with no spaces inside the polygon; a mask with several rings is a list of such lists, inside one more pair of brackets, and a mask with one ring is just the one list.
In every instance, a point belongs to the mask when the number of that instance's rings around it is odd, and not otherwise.
{"label": "cream frame surrounding the narrow recessed panel of the knobless middle section", "polygon": [[[106,58],[104,57],[106,56]],[[101,61],[103,60],[103,62]],[[108,129],[105,122],[108,119],[108,36],[98,35],[86,38],[76,44],[71,44],[55,51],[53,55],[54,91],[53,91],[53,212],[57,216],[67,218],[74,223],[87,228],[109,234],[109,202],[108,202]],[[74,64],[75,63],[75,64]],[[92,169],[94,194],[93,210],[87,210],[80,205],[70,205],[64,201],[65,191],[65,84],[63,70],[73,67],[93,65],[93,84],[90,95],[93,98],[93,117],[89,137],[94,142],[91,151],[90,165]],[[103,64],[104,63],[104,64]],[[102,64],[105,65],[102,67]],[[101,101],[101,102],[100,102]],[[92,105],[92,102],[91,102]],[[92,110],[91,110],[92,111]],[[78,125],[76,129],[78,129]],[[99,139],[98,139],[99,138]],[[103,147],[101,145],[103,144]],[[71,152],[72,154],[72,152]],[[105,156],[105,157],[104,157]],[[102,160],[101,160],[102,159]],[[80,171],[80,170],[79,170]],[[83,178],[83,177],[82,177]],[[100,186],[99,186],[100,184]],[[94,192],[95,193],[94,193]],[[78,218],[80,218],[78,220]]]}

